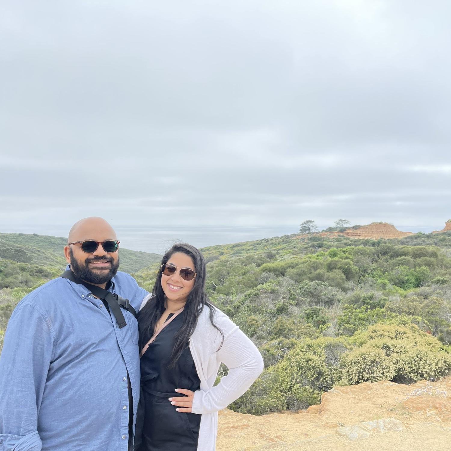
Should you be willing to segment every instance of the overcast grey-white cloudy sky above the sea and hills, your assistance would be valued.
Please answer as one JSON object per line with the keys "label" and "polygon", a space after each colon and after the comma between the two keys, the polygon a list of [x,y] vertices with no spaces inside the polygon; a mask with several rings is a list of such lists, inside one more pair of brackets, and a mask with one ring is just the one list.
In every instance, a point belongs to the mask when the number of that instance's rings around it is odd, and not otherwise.
{"label": "overcast grey-white cloudy sky above the sea and hills", "polygon": [[450,17],[448,0],[3,1],[0,231],[442,228]]}

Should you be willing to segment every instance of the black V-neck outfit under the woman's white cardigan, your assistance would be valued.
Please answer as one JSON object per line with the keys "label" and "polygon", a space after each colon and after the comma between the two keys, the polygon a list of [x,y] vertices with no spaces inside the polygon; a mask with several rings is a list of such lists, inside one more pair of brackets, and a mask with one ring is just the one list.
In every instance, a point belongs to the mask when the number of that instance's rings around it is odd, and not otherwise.
{"label": "black V-neck outfit under the woman's white cardigan", "polygon": [[[155,338],[141,357],[143,433],[139,451],[196,451],[201,415],[177,412],[168,398],[176,388],[196,391],[200,379],[187,346],[175,368],[168,368],[182,311]],[[168,321],[173,313],[166,319]]]}

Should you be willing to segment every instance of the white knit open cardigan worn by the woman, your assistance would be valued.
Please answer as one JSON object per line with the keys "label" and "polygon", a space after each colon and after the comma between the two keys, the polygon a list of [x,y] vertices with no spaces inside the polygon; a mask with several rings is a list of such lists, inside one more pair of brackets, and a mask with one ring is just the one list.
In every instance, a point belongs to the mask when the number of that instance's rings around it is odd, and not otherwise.
{"label": "white knit open cardigan worn by the woman", "polygon": [[[215,451],[218,410],[225,409],[239,398],[263,371],[262,356],[253,342],[225,313],[218,308],[213,309],[213,320],[224,334],[221,349],[218,350],[221,334],[210,322],[207,306],[199,315],[189,340],[189,349],[200,379],[200,390],[194,392],[192,408],[194,414],[202,415],[198,451]],[[229,368],[229,372],[213,387],[221,362]]]}

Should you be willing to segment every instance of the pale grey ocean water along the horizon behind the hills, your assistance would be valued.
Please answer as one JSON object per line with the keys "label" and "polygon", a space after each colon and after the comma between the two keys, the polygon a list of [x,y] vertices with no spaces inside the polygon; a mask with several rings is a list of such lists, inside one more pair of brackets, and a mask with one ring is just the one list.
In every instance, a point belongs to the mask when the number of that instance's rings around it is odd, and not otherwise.
{"label": "pale grey ocean water along the horizon behind the hills", "polygon": [[[71,225],[1,225],[3,233],[37,233],[66,237]],[[327,226],[319,226],[322,230]],[[440,227],[441,228],[441,227]],[[440,229],[439,228],[439,229]],[[397,226],[398,230],[406,232],[429,233],[432,226]],[[137,251],[164,253],[178,240],[193,244],[198,248],[215,244],[237,243],[253,239],[271,238],[273,236],[290,235],[299,230],[298,224],[292,226],[115,226],[121,247]]]}

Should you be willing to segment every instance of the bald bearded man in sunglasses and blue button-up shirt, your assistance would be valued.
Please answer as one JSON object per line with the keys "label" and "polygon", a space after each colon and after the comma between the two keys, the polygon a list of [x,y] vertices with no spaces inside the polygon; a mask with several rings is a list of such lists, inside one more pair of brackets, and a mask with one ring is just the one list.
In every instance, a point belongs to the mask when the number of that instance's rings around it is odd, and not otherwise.
{"label": "bald bearded man in sunglasses and blue button-up shirt", "polygon": [[118,248],[104,219],[78,221],[63,277],[14,309],[0,357],[0,450],[133,450],[140,378],[133,308],[148,293],[117,271]]}

